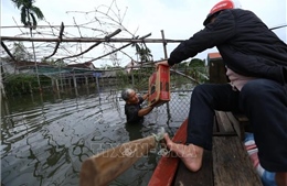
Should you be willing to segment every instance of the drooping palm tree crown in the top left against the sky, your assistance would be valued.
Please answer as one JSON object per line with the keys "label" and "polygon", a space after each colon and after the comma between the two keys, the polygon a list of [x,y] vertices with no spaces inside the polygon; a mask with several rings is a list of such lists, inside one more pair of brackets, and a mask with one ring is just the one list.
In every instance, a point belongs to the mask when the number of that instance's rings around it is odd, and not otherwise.
{"label": "drooping palm tree crown in the top left against the sky", "polygon": [[39,20],[44,19],[44,14],[42,11],[38,8],[34,7],[33,3],[35,2],[34,0],[11,0],[14,6],[21,10],[21,23],[23,23],[25,26],[32,26],[32,29],[36,29],[36,19],[35,15]]}

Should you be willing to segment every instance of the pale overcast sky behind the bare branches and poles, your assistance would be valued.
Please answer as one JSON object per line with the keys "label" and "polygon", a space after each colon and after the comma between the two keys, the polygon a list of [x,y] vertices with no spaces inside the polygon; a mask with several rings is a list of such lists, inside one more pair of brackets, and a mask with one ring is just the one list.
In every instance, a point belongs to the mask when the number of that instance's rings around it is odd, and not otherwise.
{"label": "pale overcast sky behind the bare branches and poles", "polygon": [[[121,18],[121,25],[128,32],[121,32],[114,39],[118,37],[131,37],[131,33],[135,35],[144,36],[151,33],[148,39],[161,39],[161,31],[164,33],[164,37],[169,40],[188,40],[194,33],[203,29],[203,21],[209,13],[210,9],[219,2],[217,0],[36,0],[34,6],[40,8],[45,17],[44,21],[39,21],[39,25],[60,25],[62,22],[65,26],[65,35],[73,36],[86,36],[86,37],[104,37],[103,33],[98,33],[91,28],[105,30],[107,33],[114,32],[114,26],[87,24],[92,20],[104,19],[98,17],[95,10],[108,12],[108,15],[117,20]],[[268,28],[274,28],[287,23],[287,2],[286,0],[240,0],[242,9],[252,10],[255,12]],[[108,11],[108,7],[110,7]],[[114,11],[114,14],[110,13]],[[83,13],[84,12],[84,13]],[[106,19],[106,18],[105,18]],[[104,21],[105,22],[105,21]],[[109,21],[107,21],[109,22]],[[75,25],[86,23],[86,28],[68,28],[68,25]],[[29,36],[26,35],[26,29],[7,28],[22,25],[20,22],[20,11],[12,4],[11,0],[1,0],[1,36]],[[49,37],[55,39],[59,36],[59,26],[56,29],[36,29],[38,34],[34,37]],[[274,32],[287,43],[287,29],[277,29]],[[12,47],[12,42],[6,42],[9,48]],[[31,43],[25,42],[25,46],[31,46]],[[92,43],[93,44],[93,43]],[[84,43],[82,45],[61,44],[56,57],[63,57],[67,55],[75,55],[84,50],[88,48],[91,43]],[[126,44],[126,43],[125,43]],[[168,43],[168,55],[179,43]],[[114,44],[118,47],[118,43]],[[123,44],[121,44],[123,45]],[[40,61],[43,56],[52,54],[55,43],[35,43],[38,46],[36,58]],[[162,43],[147,43],[153,56],[153,61],[164,58]],[[31,47],[30,47],[31,48]],[[41,51],[42,48],[42,51]],[[1,48],[2,50],[2,48]],[[96,58],[110,50],[106,46],[97,46],[86,53],[84,56],[72,58],[65,62],[68,63],[83,63],[88,59]],[[130,62],[130,57],[137,59],[135,47],[126,47],[124,53],[117,53],[117,63],[120,66],[125,66]],[[204,59],[208,53],[216,52],[216,48],[206,50],[194,58]],[[130,57],[128,57],[130,56]],[[104,59],[93,62],[96,67],[103,67],[106,64],[111,65],[111,56],[106,56]]]}

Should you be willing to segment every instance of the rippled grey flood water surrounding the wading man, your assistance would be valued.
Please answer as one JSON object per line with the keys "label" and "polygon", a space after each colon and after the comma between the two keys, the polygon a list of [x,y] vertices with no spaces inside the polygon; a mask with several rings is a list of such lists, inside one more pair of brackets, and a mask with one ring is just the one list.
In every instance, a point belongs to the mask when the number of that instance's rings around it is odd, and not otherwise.
{"label": "rippled grey flood water surrounding the wading man", "polygon": [[[126,124],[119,92],[43,92],[2,100],[1,185],[78,185],[82,162],[99,151],[98,144],[116,146],[159,127],[172,135],[188,116],[189,99],[190,92],[172,94],[169,114],[163,105],[138,125]],[[159,158],[149,153],[110,185],[146,186]]]}

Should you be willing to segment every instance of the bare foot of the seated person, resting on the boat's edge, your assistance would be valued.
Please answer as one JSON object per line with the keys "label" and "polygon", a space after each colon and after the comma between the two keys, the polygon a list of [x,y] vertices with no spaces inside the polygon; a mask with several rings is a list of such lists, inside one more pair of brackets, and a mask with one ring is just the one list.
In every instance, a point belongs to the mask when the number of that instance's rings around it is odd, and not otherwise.
{"label": "bare foot of the seated person, resting on the boat's edge", "polygon": [[173,143],[167,133],[164,140],[170,151],[174,152],[190,171],[196,172],[201,168],[203,147]]}

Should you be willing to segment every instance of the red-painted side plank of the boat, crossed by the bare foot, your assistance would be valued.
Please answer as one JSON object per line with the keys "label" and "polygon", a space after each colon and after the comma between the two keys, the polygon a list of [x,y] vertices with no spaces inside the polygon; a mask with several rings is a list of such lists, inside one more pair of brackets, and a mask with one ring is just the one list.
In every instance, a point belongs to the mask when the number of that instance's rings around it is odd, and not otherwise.
{"label": "red-painted side plank of the boat, crossed by the bare foot", "polygon": [[[173,142],[185,143],[187,141],[187,127],[188,119],[181,124],[178,129],[176,135],[173,136]],[[180,158],[172,156],[162,156],[158,162],[158,166],[156,167],[150,180],[149,186],[170,186],[173,182],[173,177],[178,169]]]}

